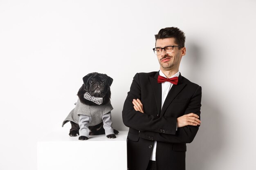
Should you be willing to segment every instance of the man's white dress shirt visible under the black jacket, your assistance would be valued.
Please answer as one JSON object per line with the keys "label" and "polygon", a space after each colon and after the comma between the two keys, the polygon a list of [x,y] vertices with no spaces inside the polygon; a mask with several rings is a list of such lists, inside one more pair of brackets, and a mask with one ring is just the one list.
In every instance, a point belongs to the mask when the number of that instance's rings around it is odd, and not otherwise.
{"label": "man's white dress shirt visible under the black jacket", "polygon": [[[166,77],[161,70],[159,71],[159,75],[161,75],[163,77]],[[180,75],[180,71],[178,71],[175,75],[173,75],[171,77],[166,77],[166,78],[179,77],[179,75]],[[173,84],[171,82],[162,83],[162,105],[161,105],[161,109],[164,105],[164,101],[165,101],[165,99],[166,99],[166,97],[167,97],[167,95],[168,95],[172,86],[173,86]],[[176,128],[176,130],[177,130],[177,128]],[[152,153],[151,153],[150,160],[152,160],[152,161],[155,161],[156,148],[157,148],[157,141],[155,141],[154,147],[153,147],[153,150],[152,150]]]}

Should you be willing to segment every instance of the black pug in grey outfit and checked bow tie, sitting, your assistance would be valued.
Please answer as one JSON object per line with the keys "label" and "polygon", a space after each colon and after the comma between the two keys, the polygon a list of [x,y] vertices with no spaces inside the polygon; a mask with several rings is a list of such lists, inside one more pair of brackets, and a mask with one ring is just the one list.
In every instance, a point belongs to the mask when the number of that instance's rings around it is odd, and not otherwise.
{"label": "black pug in grey outfit and checked bow tie, sitting", "polygon": [[83,77],[83,85],[79,89],[76,107],[63,121],[71,123],[69,135],[79,140],[89,139],[89,135],[106,134],[108,138],[116,138],[119,131],[112,129],[110,104],[110,86],[113,79],[106,74],[89,73]]}

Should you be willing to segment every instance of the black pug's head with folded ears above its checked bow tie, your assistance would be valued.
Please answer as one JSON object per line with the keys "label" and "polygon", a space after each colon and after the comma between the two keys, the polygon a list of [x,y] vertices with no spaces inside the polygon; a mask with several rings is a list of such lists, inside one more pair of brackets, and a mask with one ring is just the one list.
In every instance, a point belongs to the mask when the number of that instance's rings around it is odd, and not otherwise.
{"label": "black pug's head with folded ears above its checked bow tie", "polygon": [[94,97],[103,97],[110,91],[113,79],[106,74],[89,73],[83,77],[84,90]]}

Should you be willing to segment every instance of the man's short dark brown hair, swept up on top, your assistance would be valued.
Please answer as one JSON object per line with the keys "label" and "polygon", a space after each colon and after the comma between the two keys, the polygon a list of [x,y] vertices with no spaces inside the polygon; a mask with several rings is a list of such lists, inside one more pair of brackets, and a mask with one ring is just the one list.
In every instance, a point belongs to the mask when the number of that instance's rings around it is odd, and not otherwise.
{"label": "man's short dark brown hair, swept up on top", "polygon": [[[178,46],[184,47],[185,46],[185,34],[183,31],[178,29],[177,27],[167,27],[164,29],[160,29],[158,34],[155,35],[155,42],[157,39],[164,39],[164,38],[174,38],[174,42],[178,44]],[[180,49],[180,48],[179,48]]]}

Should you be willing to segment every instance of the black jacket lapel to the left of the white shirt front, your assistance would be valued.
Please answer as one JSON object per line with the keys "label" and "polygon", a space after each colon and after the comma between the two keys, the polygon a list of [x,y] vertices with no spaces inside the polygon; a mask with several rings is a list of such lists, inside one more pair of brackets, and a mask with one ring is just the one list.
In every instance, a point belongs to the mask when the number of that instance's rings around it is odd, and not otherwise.
{"label": "black jacket lapel to the left of the white shirt front", "polygon": [[152,90],[155,95],[155,102],[157,104],[157,115],[159,115],[161,111],[161,104],[162,104],[162,84],[157,83],[158,75],[159,75],[159,72],[157,72],[154,77],[149,77],[150,84],[152,86]]}

